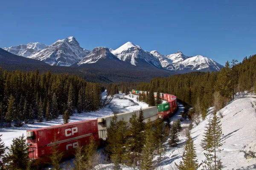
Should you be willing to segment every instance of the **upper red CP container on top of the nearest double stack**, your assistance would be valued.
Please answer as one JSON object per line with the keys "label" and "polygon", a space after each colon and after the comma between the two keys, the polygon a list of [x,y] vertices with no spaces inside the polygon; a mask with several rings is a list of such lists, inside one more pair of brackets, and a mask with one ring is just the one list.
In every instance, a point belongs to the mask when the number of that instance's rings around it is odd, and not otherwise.
{"label": "upper red CP container on top of the nearest double stack", "polygon": [[97,120],[85,120],[79,122],[73,122],[63,125],[43,127],[34,130],[32,138],[28,138],[32,147],[43,147],[51,144],[54,141],[54,134],[58,141],[67,141],[75,139],[78,136],[89,135],[98,133]]}

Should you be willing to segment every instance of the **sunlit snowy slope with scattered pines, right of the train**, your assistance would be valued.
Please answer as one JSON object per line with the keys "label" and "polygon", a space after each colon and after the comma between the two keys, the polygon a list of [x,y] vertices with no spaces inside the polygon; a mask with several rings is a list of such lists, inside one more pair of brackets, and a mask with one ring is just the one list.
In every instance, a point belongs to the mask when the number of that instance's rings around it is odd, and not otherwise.
{"label": "sunlit snowy slope with scattered pines, right of the train", "polygon": [[[251,97],[237,98],[230,102],[220,112],[222,133],[224,134],[224,144],[221,147],[223,151],[217,153],[221,156],[224,170],[253,170],[256,169],[256,158],[246,159],[245,152],[256,153],[256,99]],[[203,148],[200,146],[203,139],[204,130],[209,117],[202,121],[198,126],[194,125],[191,130],[191,136],[194,140],[198,162],[205,160]],[[189,122],[187,122],[187,126]],[[183,124],[183,126],[186,126]],[[170,148],[166,152],[166,159],[160,163],[163,169],[174,167],[182,160],[186,137],[179,136],[180,144],[178,147]],[[201,167],[202,168],[202,167]]]}

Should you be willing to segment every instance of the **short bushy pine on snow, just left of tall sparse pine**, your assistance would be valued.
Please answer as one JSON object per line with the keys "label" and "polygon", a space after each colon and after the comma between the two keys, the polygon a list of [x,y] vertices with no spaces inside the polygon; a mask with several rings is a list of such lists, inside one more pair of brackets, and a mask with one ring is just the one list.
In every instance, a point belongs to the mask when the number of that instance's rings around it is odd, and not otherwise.
{"label": "short bushy pine on snow, just left of tall sparse pine", "polygon": [[200,165],[198,164],[196,157],[194,142],[189,133],[188,140],[186,141],[185,149],[183,151],[182,161],[180,161],[179,165],[176,163],[175,165],[179,170],[197,170]]}

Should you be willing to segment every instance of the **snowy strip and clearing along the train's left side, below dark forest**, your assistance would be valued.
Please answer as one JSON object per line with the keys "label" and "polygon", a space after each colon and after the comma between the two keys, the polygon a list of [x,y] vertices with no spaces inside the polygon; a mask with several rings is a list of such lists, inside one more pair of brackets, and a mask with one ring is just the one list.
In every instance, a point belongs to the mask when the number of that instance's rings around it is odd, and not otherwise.
{"label": "snowy strip and clearing along the train's left side, below dark forest", "polygon": [[[102,93],[102,98],[104,99],[106,96],[106,92]],[[111,107],[112,109],[111,109]],[[96,119],[98,117],[108,116],[113,114],[113,108],[118,109],[121,112],[128,112],[139,110],[140,107],[146,108],[147,104],[144,102],[137,102],[136,96],[132,98],[132,96],[125,96],[124,94],[116,94],[111,101],[110,105],[106,106],[103,109],[99,109],[98,111],[91,112],[83,112],[83,113],[73,113],[73,116],[70,116],[70,122],[78,122],[82,120],[88,119]],[[5,146],[10,146],[12,144],[12,140],[14,138],[18,138],[22,136],[22,134],[26,137],[26,130],[48,127],[54,125],[63,124],[62,115],[59,116],[58,119],[53,119],[52,121],[44,121],[44,122],[35,122],[34,124],[25,124],[22,127],[6,127],[0,129],[0,134],[2,141],[5,143]]]}

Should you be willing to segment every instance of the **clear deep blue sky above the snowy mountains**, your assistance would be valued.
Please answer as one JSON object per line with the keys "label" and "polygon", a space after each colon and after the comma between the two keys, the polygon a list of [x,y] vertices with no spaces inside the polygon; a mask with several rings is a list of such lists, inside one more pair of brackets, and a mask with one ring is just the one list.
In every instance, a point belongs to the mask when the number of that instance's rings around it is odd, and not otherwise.
{"label": "clear deep blue sky above the snowy mountains", "polygon": [[0,47],[74,36],[85,49],[127,41],[224,63],[256,54],[255,0],[3,0]]}

